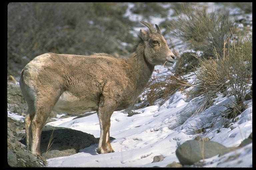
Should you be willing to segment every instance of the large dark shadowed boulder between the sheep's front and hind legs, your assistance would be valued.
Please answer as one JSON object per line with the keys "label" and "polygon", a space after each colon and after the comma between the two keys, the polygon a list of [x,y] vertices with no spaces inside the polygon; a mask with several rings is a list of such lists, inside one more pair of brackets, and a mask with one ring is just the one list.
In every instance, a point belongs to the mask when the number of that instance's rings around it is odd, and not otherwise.
{"label": "large dark shadowed boulder between the sheep's front and hind legs", "polygon": [[[26,144],[26,137],[21,142]],[[40,149],[42,157],[49,159],[76,154],[80,149],[96,143],[99,140],[92,134],[71,128],[45,126],[41,134]]]}

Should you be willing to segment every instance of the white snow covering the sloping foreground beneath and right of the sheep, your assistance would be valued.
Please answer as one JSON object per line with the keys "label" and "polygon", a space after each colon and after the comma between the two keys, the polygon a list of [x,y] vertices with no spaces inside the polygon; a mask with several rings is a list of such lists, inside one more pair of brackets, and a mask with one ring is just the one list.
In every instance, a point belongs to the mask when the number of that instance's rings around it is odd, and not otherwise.
{"label": "white snow covering the sloping foreground beneath and right of the sheep", "polygon": [[[248,101],[248,108],[238,116],[238,121],[228,128],[222,126],[224,119],[219,114],[226,109],[224,105],[227,106],[231,101],[224,96],[218,96],[214,100],[214,105],[200,114],[194,113],[201,99],[187,98],[181,92],[170,96],[170,99],[161,106],[134,110],[140,114],[131,117],[128,117],[128,113],[116,111],[111,117],[110,127],[110,136],[115,138],[111,141],[114,153],[97,154],[98,145],[94,144],[74,155],[48,159],[48,166],[165,167],[173,161],[179,162],[175,154],[177,147],[196,136],[209,137],[211,141],[226,147],[237,147],[252,132],[252,100]],[[97,114],[75,120],[72,120],[73,118],[57,119],[47,125],[81,130],[100,137]],[[17,119],[22,117],[19,116]],[[198,129],[202,128],[205,128],[206,132],[198,133]],[[162,155],[164,160],[151,163],[157,155]],[[252,167],[252,143],[204,161],[204,167]]]}

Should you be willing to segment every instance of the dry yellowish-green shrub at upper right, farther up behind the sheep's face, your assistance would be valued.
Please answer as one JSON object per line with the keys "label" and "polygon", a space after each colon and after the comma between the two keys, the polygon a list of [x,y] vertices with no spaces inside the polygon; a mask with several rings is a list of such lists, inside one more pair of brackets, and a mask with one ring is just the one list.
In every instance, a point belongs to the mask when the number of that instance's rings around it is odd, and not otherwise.
{"label": "dry yellowish-green shrub at upper right, farther up behind the sheep's face", "polygon": [[169,26],[171,37],[182,40],[198,57],[214,58],[215,52],[221,55],[227,33],[235,30],[229,12],[208,13],[199,7],[184,7],[182,12]]}

